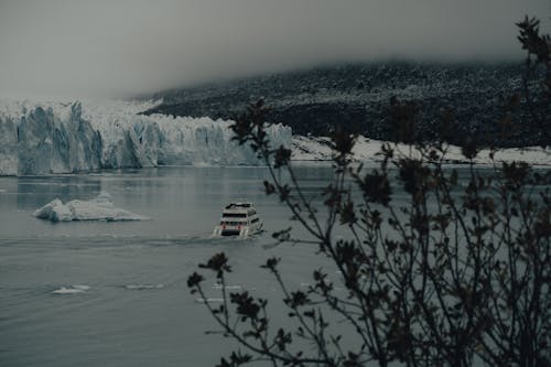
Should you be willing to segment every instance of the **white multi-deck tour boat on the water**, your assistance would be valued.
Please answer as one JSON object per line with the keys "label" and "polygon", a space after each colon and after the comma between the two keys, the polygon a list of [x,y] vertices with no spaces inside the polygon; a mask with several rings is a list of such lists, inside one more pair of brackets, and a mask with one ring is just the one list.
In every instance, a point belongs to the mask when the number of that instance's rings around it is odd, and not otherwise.
{"label": "white multi-deck tour boat on the water", "polygon": [[213,236],[247,237],[262,229],[252,203],[230,203],[222,211],[220,224],[214,227]]}

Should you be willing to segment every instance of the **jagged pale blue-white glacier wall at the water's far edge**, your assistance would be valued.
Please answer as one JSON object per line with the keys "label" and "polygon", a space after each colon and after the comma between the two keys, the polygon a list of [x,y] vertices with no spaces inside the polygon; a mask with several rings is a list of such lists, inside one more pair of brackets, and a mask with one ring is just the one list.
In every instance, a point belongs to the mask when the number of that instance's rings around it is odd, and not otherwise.
{"label": "jagged pale blue-white glacier wall at the water's far edge", "polygon": [[[140,115],[155,101],[1,101],[0,175],[42,175],[159,165],[259,165],[231,121]],[[291,145],[272,125],[274,147]]]}

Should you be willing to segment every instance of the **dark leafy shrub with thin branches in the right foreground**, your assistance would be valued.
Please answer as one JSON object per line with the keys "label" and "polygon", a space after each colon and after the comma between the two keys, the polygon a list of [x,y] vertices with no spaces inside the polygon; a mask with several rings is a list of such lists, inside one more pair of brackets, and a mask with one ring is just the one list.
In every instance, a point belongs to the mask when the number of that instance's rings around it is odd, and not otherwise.
{"label": "dark leafy shrub with thin branches in the right foreground", "polygon": [[[549,65],[549,37],[539,35],[538,22],[527,19],[519,28],[527,67]],[[291,228],[273,237],[315,244],[342,281],[315,269],[307,290],[292,290],[281,277],[281,259],[268,259],[261,268],[274,277],[282,306],[294,321],[283,328],[272,324],[274,310],[267,300],[246,290],[227,292],[229,260],[215,255],[199,267],[223,284],[224,302],[218,309],[205,305],[224,335],[248,352],[235,352],[219,366],[258,360],[273,366],[551,366],[551,172],[499,162],[480,170],[474,161],[478,144],[465,140],[468,169],[460,179],[456,169],[444,165],[445,143],[413,144],[418,105],[393,98],[390,107],[387,122],[402,131],[382,147],[380,166],[368,171],[353,164],[356,136],[335,129],[334,174],[313,198],[302,191],[290,151],[270,147],[263,102],[236,118],[237,141],[250,144],[268,164],[267,194],[278,194],[314,240],[294,238]],[[409,143],[408,151],[398,142]],[[393,202],[396,192],[407,195],[406,204]],[[187,284],[205,298],[203,280],[193,273]],[[335,332],[329,319],[341,320],[337,330],[346,324],[347,335]]]}

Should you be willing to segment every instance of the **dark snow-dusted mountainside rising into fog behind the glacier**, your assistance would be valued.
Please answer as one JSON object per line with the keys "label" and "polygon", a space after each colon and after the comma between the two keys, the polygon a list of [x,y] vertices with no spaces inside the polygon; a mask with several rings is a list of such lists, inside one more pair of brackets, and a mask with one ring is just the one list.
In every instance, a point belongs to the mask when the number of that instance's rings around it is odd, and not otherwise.
{"label": "dark snow-dusted mountainside rising into fog behind the glacier", "polygon": [[522,72],[521,64],[341,65],[160,91],[153,97],[163,102],[144,114],[230,119],[262,98],[272,108],[269,121],[290,126],[295,134],[327,136],[339,128],[390,140],[390,104],[397,99],[417,114],[417,140],[443,137],[461,144],[464,137],[476,137],[501,147],[541,144],[541,127],[526,102],[506,109],[522,89]]}

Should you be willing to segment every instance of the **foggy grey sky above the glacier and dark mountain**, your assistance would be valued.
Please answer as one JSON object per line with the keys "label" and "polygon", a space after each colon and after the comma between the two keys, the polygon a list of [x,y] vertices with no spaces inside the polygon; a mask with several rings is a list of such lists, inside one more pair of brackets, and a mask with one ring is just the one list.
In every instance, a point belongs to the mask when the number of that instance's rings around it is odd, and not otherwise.
{"label": "foggy grey sky above the glacier and dark mountain", "polygon": [[336,62],[511,60],[551,0],[0,0],[0,96],[121,96]]}

